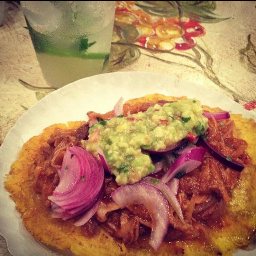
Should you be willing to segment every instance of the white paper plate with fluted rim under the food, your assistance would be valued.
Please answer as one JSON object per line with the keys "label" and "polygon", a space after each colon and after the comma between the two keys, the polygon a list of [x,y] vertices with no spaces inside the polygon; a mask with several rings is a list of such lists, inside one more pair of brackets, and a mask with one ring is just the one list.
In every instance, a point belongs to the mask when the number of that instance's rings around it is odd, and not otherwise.
{"label": "white paper plate with fluted rim under the food", "polygon": [[[11,164],[16,160],[24,142],[38,135],[43,128],[67,121],[85,120],[86,112],[107,112],[122,96],[124,100],[146,94],[198,98],[202,104],[218,106],[246,118],[256,117],[240,104],[208,87],[171,76],[147,72],[117,72],[84,78],[60,88],[30,108],[7,134],[0,148],[0,234],[6,238],[14,256],[50,256],[54,252],[36,242],[22,226],[20,214],[4,189],[3,182]],[[236,252],[236,255],[255,255],[256,250]]]}

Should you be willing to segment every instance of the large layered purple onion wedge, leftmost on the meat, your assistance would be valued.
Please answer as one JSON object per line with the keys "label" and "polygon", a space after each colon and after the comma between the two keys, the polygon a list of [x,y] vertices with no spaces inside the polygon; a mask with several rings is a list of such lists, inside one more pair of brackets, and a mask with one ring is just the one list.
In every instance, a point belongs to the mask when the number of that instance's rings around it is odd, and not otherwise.
{"label": "large layered purple onion wedge, leftmost on the meat", "polygon": [[102,194],[103,182],[104,169],[96,158],[78,146],[67,148],[60,183],[48,196],[52,201],[52,217],[68,220],[90,211]]}

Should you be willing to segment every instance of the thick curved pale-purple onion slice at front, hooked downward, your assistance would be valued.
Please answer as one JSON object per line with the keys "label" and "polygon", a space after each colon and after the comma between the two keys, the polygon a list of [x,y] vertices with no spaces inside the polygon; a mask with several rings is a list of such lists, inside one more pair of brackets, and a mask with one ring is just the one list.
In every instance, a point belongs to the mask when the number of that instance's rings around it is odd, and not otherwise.
{"label": "thick curved pale-purple onion slice at front, hooked downward", "polygon": [[146,182],[138,182],[121,186],[112,192],[111,197],[120,208],[132,204],[143,204],[146,207],[153,222],[149,244],[157,250],[169,225],[169,205],[160,190]]}

